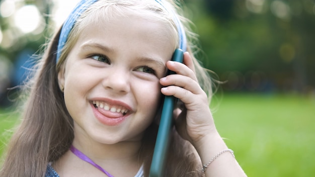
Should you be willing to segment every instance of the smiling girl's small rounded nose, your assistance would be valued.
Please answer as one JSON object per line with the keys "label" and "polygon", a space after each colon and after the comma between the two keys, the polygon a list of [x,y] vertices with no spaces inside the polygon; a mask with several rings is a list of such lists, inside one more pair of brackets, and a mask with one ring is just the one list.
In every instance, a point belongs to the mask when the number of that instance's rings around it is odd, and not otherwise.
{"label": "smiling girl's small rounded nose", "polygon": [[124,69],[112,68],[103,79],[103,86],[107,90],[116,93],[128,93],[130,91],[129,72]]}

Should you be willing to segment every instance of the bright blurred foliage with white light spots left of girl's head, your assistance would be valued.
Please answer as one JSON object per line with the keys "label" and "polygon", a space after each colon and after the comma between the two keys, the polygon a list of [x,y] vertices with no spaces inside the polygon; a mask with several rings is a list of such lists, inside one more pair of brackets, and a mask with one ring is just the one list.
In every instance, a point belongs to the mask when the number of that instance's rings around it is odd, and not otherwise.
{"label": "bright blurred foliage with white light spots left of girl's head", "polygon": [[[10,105],[9,87],[20,85],[32,66],[31,55],[60,27],[78,0],[0,3],[0,104]],[[10,95],[10,92],[9,92]]]}

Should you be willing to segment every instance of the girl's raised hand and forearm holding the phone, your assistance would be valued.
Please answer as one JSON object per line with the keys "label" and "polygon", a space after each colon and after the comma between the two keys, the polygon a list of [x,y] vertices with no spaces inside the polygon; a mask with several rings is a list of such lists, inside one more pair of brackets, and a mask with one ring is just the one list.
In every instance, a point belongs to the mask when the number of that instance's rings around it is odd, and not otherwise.
{"label": "girl's raised hand and forearm holding the phone", "polygon": [[[174,111],[177,131],[196,148],[202,164],[207,164],[227,146],[214,126],[208,98],[198,84],[192,58],[185,52],[184,64],[168,61],[166,65],[177,74],[161,78],[160,83],[166,86],[161,91],[180,99],[185,106],[182,111]],[[229,153],[220,155],[208,168],[205,176],[246,176]]]}

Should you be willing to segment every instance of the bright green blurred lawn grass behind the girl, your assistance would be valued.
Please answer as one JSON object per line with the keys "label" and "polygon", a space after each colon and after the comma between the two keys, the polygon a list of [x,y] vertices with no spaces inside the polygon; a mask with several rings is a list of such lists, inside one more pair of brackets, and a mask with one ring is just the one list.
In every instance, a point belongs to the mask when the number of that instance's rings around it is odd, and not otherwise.
{"label": "bright green blurred lawn grass behind the girl", "polygon": [[[315,174],[315,98],[294,95],[217,96],[211,103],[216,127],[248,176]],[[16,122],[0,110],[3,136]],[[9,133],[10,135],[10,133]]]}

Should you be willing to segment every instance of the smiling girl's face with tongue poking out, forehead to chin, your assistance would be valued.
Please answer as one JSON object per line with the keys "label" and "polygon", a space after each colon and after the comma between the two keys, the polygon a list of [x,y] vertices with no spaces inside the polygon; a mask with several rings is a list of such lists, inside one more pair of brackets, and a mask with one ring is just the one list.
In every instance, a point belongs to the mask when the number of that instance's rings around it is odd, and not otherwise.
{"label": "smiling girl's face with tongue poking out, forehead to chin", "polygon": [[176,42],[165,24],[129,15],[84,28],[58,74],[75,139],[140,140],[155,117]]}

